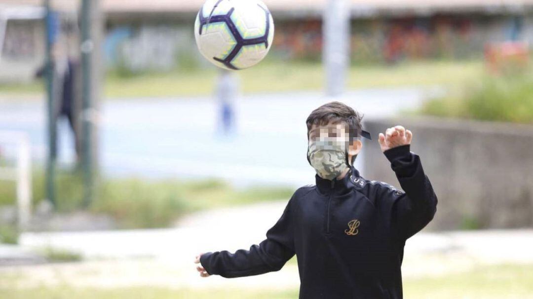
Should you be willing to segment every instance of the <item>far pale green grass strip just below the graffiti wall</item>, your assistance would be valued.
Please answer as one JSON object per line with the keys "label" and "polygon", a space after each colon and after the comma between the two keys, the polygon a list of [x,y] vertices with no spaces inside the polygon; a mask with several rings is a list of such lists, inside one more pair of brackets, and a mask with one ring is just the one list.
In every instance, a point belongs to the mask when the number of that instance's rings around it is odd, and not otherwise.
{"label": "far pale green grass strip just below the graffiti wall", "polygon": [[[211,95],[218,70],[213,68],[149,72],[124,75],[110,71],[106,76],[104,94],[107,98]],[[352,66],[348,88],[399,87],[462,84],[481,76],[483,63],[471,61],[410,61]],[[237,72],[244,93],[319,91],[324,88],[324,69],[319,62],[264,61],[253,68]],[[0,85],[0,94],[34,93],[42,84]]]}

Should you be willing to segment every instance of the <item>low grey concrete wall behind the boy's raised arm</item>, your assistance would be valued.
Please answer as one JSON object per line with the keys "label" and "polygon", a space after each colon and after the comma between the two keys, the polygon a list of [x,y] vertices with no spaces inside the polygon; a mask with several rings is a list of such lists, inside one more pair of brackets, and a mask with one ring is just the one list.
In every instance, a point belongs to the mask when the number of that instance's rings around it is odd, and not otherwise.
{"label": "low grey concrete wall behind the boy's raised arm", "polygon": [[364,176],[400,187],[377,134],[403,125],[439,198],[431,229],[533,227],[533,126],[439,118],[367,120]]}

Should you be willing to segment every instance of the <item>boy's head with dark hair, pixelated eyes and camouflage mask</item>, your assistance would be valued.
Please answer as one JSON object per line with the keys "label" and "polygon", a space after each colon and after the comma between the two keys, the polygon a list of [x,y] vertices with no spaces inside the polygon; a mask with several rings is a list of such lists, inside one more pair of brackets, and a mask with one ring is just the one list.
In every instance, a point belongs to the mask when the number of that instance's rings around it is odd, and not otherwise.
{"label": "boy's head with dark hair, pixelated eyes and camouflage mask", "polygon": [[324,179],[332,180],[353,164],[362,148],[359,137],[362,115],[341,102],[330,102],[314,109],[306,120],[308,160]]}

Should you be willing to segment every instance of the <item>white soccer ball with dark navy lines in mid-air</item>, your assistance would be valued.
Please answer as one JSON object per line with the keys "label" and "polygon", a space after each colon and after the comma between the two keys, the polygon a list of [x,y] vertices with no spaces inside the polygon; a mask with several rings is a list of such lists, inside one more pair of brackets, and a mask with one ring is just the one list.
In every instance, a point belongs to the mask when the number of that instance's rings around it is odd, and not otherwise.
{"label": "white soccer ball with dark navy lines in mid-air", "polygon": [[215,66],[245,69],[270,50],[274,21],[259,0],[207,0],[196,17],[195,37],[200,53]]}

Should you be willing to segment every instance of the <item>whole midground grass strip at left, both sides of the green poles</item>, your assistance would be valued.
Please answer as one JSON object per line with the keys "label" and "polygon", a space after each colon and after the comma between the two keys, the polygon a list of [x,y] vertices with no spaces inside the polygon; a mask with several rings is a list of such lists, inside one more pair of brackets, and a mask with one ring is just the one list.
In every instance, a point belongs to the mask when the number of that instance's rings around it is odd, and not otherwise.
{"label": "whole midground grass strip at left, both sides of the green poles", "polygon": [[[76,171],[61,171],[56,175],[56,203],[59,213],[69,213],[83,207],[83,180]],[[237,190],[220,180],[180,181],[149,179],[102,178],[96,199],[88,209],[94,213],[111,215],[120,228],[168,227],[180,216],[205,209],[268,200],[288,200],[294,190],[285,187],[249,187]],[[45,176],[33,176],[35,204],[45,198]],[[0,181],[0,206],[15,203],[15,189],[11,182]],[[4,230],[0,229],[0,233]],[[9,240],[12,231],[5,229]]]}

